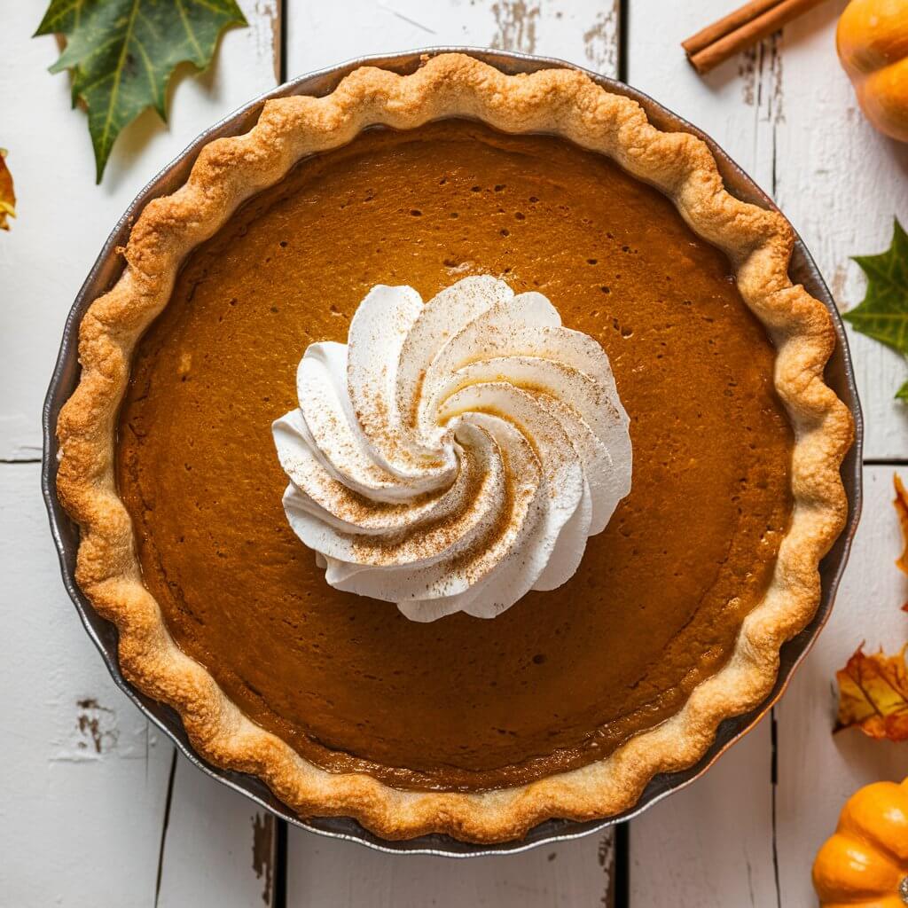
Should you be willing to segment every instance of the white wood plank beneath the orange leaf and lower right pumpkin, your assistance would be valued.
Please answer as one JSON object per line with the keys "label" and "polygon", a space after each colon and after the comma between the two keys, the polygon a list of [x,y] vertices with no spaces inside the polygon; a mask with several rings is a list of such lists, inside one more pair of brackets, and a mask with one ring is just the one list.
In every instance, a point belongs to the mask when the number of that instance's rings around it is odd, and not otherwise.
{"label": "white wood plank beneath the orange leaf and lower right pumpkin", "polygon": [[[908,468],[902,469],[908,479]],[[873,741],[860,732],[832,735],[835,672],[862,642],[894,653],[908,640],[908,577],[895,567],[902,546],[892,506],[893,469],[864,469],[864,516],[829,624],[776,708],[776,838],[780,904],[813,904],[810,868],[835,828],[845,800],[861,785],[901,781],[908,743]]]}

